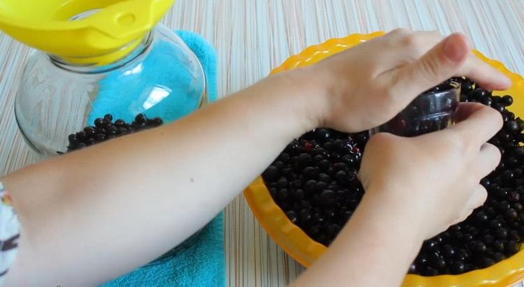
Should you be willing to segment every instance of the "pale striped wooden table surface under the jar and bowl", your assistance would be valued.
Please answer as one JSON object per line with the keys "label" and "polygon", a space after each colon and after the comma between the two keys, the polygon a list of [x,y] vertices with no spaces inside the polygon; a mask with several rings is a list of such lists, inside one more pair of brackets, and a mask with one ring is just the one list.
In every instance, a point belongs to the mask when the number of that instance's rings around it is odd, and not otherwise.
{"label": "pale striped wooden table surface under the jar and bowl", "polygon": [[[524,0],[177,0],[163,22],[196,31],[217,48],[222,96],[308,45],[397,27],[460,31],[477,50],[524,75]],[[0,34],[0,175],[34,161],[13,114],[27,52]],[[285,286],[303,271],[270,240],[242,196],[225,209],[224,228],[229,286]]]}

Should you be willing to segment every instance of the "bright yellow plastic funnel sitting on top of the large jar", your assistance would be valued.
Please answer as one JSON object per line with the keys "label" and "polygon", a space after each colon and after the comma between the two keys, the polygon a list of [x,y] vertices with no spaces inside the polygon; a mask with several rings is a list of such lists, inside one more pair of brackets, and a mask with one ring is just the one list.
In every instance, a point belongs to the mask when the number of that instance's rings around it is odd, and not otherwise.
{"label": "bright yellow plastic funnel sitting on top of the large jar", "polygon": [[174,0],[0,0],[0,30],[73,64],[108,64],[140,43]]}

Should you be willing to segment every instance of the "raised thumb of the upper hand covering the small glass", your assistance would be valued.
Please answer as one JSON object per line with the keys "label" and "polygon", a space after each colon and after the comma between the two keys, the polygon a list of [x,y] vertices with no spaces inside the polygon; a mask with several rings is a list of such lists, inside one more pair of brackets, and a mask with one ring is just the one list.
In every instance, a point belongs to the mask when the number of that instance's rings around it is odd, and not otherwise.
{"label": "raised thumb of the upper hand covering the small glass", "polygon": [[418,95],[455,75],[465,63],[470,45],[462,34],[451,34],[420,59],[395,71],[393,86]]}

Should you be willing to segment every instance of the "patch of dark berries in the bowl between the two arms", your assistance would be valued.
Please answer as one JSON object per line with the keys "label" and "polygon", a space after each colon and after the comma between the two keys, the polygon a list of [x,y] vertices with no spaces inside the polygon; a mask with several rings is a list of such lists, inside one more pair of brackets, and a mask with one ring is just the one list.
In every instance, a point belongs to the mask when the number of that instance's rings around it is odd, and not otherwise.
{"label": "patch of dark berries in the bowl between the two arms", "polygon": [[353,214],[364,189],[356,179],[367,133],[319,128],[293,140],[263,172],[288,218],[317,242],[329,245]]}

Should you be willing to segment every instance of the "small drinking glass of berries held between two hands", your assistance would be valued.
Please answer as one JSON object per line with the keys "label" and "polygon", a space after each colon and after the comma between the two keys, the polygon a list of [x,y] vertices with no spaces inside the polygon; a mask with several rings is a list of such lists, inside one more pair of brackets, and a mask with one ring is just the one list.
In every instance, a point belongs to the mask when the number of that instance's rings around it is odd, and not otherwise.
{"label": "small drinking glass of berries held between two hands", "polygon": [[442,130],[455,122],[460,101],[460,84],[449,82],[417,96],[412,103],[386,124],[370,133],[393,133],[405,137]]}

